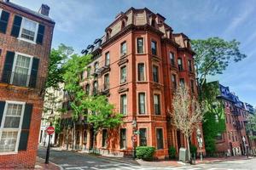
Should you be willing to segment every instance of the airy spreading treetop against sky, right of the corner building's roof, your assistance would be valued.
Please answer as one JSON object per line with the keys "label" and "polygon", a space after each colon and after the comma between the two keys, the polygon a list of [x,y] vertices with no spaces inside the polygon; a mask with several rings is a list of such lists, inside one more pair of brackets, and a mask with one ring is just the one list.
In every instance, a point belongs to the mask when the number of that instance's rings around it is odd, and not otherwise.
{"label": "airy spreading treetop against sky, right of the corner building's roof", "polygon": [[191,45],[195,51],[195,69],[198,77],[198,86],[207,81],[207,76],[222,74],[230,62],[238,62],[246,58],[239,50],[240,42],[236,40],[225,41],[219,37],[210,37],[206,40],[192,40]]}

